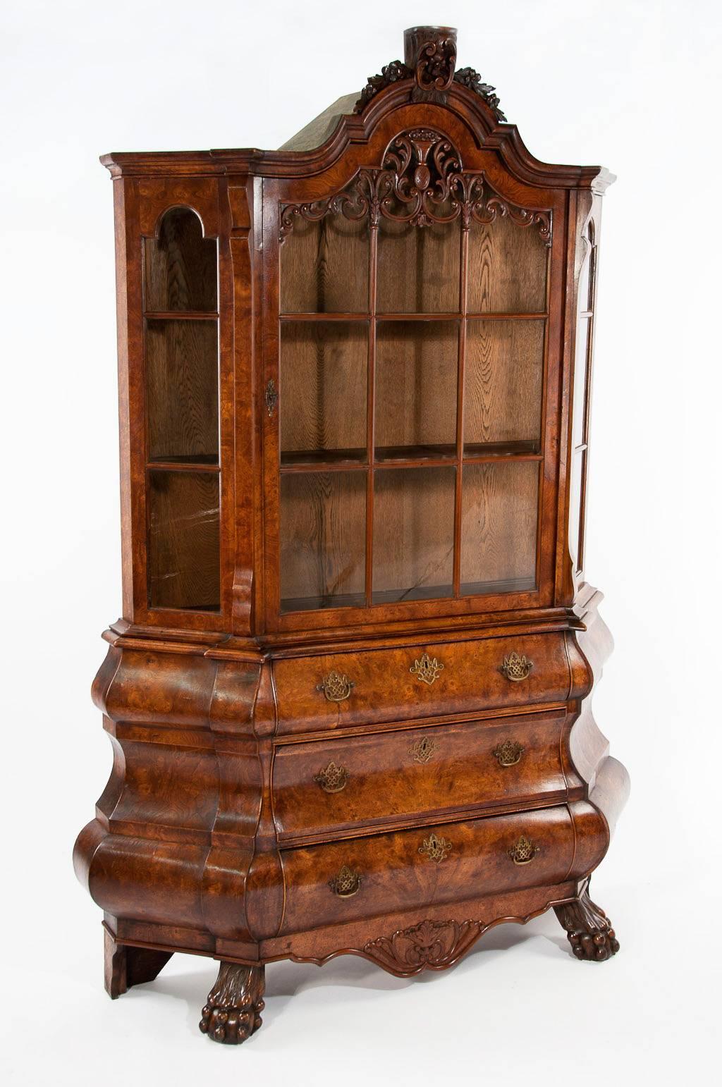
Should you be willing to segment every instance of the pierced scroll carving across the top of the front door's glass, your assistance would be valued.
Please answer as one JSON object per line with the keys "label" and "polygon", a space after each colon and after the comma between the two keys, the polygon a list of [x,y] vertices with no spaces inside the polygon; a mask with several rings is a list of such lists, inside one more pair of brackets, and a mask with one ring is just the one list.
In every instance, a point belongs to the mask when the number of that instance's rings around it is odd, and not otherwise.
{"label": "pierced scroll carving across the top of the front door's glass", "polygon": [[372,226],[381,218],[422,227],[461,218],[464,229],[472,220],[489,224],[508,217],[518,226],[538,228],[545,245],[551,245],[551,211],[518,208],[503,199],[483,171],[465,172],[448,137],[432,128],[400,133],[386,148],[382,168],[360,170],[340,192],[282,205],[281,241],[298,218],[313,222],[328,214],[369,217]]}

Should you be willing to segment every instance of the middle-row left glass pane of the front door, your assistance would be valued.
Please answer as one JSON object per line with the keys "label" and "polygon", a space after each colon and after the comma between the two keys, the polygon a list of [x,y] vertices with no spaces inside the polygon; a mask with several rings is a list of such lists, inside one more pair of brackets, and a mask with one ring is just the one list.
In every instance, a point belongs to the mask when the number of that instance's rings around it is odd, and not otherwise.
{"label": "middle-row left glass pane of the front door", "polygon": [[282,325],[282,464],[324,451],[365,460],[368,354],[365,322]]}

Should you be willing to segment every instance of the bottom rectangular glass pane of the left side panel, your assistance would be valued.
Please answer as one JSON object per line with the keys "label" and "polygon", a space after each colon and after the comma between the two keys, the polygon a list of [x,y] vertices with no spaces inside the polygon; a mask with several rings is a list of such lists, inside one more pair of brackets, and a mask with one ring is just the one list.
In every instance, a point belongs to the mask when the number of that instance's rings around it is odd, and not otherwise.
{"label": "bottom rectangular glass pane of the left side panel", "polygon": [[151,608],[219,611],[219,475],[150,472],[148,595]]}

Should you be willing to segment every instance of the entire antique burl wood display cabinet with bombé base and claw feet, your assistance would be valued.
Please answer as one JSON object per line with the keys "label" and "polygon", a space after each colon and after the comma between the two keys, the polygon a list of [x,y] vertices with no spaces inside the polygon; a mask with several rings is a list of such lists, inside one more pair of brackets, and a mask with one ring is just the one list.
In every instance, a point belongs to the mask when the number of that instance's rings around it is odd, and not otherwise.
{"label": "entire antique burl wood display cabinet with bomb\u00e9 base and claw feet", "polygon": [[584,578],[597,166],[534,159],[456,32],[279,151],[109,154],[123,617],[76,871],[112,997],[220,961],[451,966],[589,899],[627,794]]}

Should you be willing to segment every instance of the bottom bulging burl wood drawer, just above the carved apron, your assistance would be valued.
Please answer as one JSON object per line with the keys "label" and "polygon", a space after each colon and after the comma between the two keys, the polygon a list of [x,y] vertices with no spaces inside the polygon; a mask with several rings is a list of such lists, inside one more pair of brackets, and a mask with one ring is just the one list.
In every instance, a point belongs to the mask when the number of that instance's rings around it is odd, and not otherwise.
{"label": "bottom bulging burl wood drawer, just above the carved apron", "polygon": [[565,804],[282,850],[279,935],[457,899],[552,885],[574,858]]}

